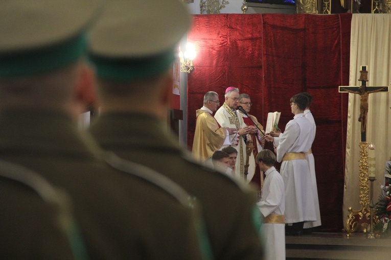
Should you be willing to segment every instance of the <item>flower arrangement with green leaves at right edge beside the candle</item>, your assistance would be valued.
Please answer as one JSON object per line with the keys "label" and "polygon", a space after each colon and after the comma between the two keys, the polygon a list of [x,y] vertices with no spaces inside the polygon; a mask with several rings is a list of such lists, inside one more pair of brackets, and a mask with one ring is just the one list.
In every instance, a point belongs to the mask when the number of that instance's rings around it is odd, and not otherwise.
{"label": "flower arrangement with green leaves at right edge beside the candle", "polygon": [[381,185],[382,194],[379,201],[375,204],[375,215],[377,221],[374,225],[374,231],[379,232],[383,237],[391,234],[391,164],[386,167],[386,177],[384,185]]}

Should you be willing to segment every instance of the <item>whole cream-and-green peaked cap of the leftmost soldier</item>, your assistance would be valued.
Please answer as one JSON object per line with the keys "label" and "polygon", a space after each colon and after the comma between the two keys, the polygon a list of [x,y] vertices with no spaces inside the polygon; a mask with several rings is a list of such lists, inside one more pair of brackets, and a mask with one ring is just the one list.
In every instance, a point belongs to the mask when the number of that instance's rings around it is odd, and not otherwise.
{"label": "whole cream-and-green peaked cap of the leftmost soldier", "polygon": [[77,60],[101,6],[100,0],[2,0],[0,77],[34,75]]}

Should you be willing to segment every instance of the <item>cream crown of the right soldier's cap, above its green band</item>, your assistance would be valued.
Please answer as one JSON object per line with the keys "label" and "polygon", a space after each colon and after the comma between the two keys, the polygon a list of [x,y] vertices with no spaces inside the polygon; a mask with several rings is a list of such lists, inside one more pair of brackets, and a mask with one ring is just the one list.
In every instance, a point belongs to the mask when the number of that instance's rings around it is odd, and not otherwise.
{"label": "cream crown of the right soldier's cap, above its green band", "polygon": [[111,58],[159,55],[174,48],[190,23],[178,0],[109,0],[91,28],[89,51]]}

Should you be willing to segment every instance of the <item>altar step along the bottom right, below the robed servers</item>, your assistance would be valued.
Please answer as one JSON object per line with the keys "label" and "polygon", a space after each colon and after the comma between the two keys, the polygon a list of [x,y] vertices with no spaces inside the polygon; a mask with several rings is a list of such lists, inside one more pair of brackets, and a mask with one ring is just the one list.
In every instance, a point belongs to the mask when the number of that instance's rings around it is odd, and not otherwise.
{"label": "altar step along the bottom right, below the robed servers", "polygon": [[312,233],[285,237],[287,260],[391,259],[391,238],[367,239],[367,234]]}

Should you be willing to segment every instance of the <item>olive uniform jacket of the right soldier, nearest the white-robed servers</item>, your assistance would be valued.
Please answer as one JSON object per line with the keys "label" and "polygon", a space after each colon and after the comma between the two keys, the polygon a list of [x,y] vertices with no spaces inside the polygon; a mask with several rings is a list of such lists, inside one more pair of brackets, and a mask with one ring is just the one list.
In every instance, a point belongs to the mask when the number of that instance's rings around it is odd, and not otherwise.
{"label": "olive uniform jacket of the right soldier, nearest the white-robed servers", "polygon": [[91,124],[90,131],[104,149],[163,173],[201,201],[215,259],[263,259],[254,224],[257,211],[260,216],[255,192],[185,159],[185,152],[157,119],[107,113]]}

